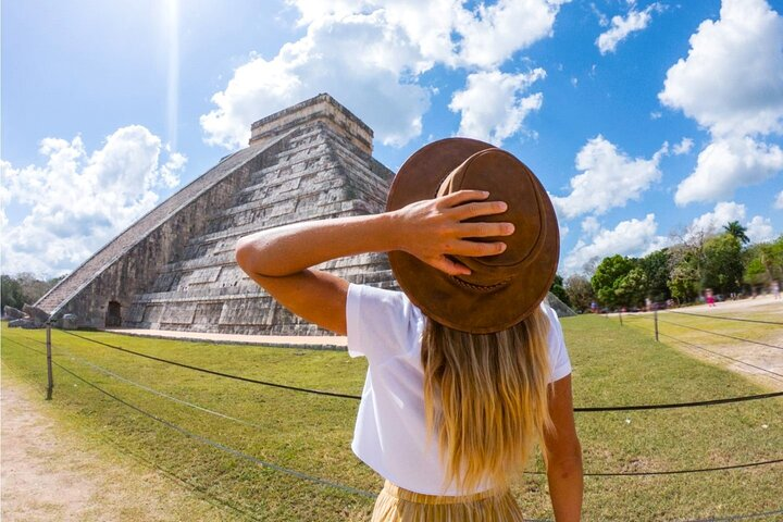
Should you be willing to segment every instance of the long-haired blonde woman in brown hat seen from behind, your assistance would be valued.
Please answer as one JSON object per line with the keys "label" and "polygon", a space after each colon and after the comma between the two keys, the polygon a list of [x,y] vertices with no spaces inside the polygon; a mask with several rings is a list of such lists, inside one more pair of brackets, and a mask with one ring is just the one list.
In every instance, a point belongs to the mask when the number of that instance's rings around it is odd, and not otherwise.
{"label": "long-haired blonde woman in brown hat seen from behind", "polygon": [[[389,252],[402,293],[319,263]],[[509,481],[543,442],[557,522],[580,520],[582,457],[562,331],[551,202],[513,156],[464,138],[400,169],[387,211],[262,231],[239,265],[369,361],[352,448],[386,478],[373,521],[521,521]]]}

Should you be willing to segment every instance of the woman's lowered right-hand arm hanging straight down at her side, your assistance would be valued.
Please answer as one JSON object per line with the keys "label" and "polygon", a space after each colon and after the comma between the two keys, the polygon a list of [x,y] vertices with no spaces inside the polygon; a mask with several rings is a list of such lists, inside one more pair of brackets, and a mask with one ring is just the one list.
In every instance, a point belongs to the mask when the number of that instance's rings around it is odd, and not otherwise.
{"label": "woman's lowered right-hand arm hanging straight down at her side", "polygon": [[582,513],[582,446],[573,417],[571,375],[555,382],[549,397],[555,431],[544,437],[549,496],[556,522],[577,522]]}

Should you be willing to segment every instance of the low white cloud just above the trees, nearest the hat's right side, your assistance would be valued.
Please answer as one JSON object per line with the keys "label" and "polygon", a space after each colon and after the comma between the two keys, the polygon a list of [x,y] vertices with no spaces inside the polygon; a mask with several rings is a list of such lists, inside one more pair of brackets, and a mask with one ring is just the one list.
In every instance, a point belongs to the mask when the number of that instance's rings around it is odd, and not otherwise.
{"label": "low white cloud just above the trees, nearest the hat's right side", "polygon": [[644,220],[632,219],[621,221],[609,229],[599,229],[591,243],[580,239],[563,261],[563,272],[572,274],[593,258],[602,259],[619,253],[621,256],[644,256],[655,248],[662,248],[667,238],[656,234],[658,223],[655,214],[647,214]]}

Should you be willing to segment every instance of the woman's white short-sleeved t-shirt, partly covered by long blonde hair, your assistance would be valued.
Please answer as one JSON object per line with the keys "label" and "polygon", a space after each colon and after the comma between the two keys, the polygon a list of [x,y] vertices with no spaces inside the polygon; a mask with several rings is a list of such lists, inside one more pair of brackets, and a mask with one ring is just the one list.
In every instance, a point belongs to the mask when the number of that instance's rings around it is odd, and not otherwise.
{"label": "woman's white short-sleeved t-shirt, partly covered by long blonde hair", "polygon": [[[549,328],[550,382],[571,373],[562,328],[555,311],[542,303]],[[437,439],[427,444],[421,343],[425,316],[401,291],[353,285],[346,307],[348,353],[364,356],[369,368],[353,432],[353,452],[391,483],[426,495],[475,492],[443,489],[445,468]]]}

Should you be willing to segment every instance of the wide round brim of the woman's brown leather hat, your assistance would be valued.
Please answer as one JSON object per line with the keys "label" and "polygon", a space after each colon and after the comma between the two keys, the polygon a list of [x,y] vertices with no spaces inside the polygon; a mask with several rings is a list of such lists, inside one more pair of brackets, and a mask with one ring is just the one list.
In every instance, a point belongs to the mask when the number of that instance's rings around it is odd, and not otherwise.
{"label": "wide round brim of the woman's brown leather hat", "polygon": [[[415,201],[435,198],[442,182],[451,171],[471,156],[489,148],[494,146],[469,138],[447,138],[426,145],[414,152],[395,176],[386,210],[394,211]],[[526,166],[524,170],[536,187],[546,226],[542,248],[525,261],[507,285],[490,291],[474,291],[405,251],[388,253],[400,288],[430,319],[462,332],[499,332],[523,321],[546,297],[557,271],[560,233],[546,190]],[[502,199],[502,195],[497,198],[490,195],[490,199]]]}

